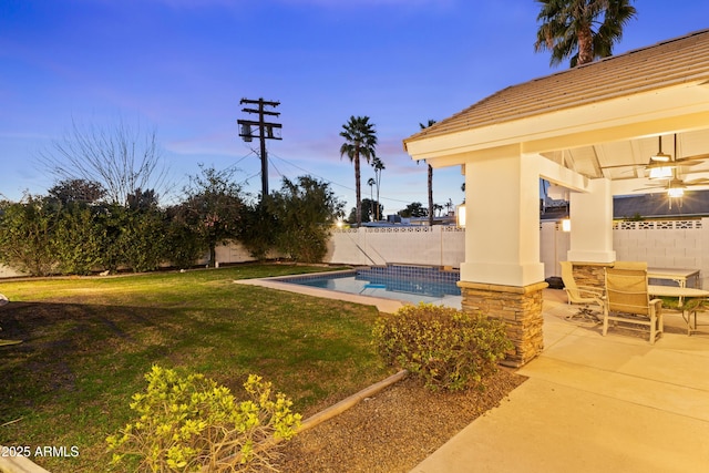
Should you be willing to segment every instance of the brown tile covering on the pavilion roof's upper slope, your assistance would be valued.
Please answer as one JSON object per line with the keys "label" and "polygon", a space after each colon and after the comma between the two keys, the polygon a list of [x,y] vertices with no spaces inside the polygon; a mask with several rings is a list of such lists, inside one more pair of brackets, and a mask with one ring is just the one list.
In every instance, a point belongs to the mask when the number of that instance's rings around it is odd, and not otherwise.
{"label": "brown tile covering on the pavilion roof's upper slope", "polygon": [[709,29],[503,89],[407,142],[709,80]]}

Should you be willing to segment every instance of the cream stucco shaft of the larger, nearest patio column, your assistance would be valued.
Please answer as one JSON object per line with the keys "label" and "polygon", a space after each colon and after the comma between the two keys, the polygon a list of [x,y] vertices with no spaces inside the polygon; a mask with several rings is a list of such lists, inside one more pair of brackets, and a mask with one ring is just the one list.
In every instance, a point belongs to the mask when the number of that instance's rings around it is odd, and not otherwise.
{"label": "cream stucco shaft of the larger, nearest patio column", "polygon": [[465,263],[461,280],[524,287],[544,280],[540,261],[538,161],[518,146],[465,163]]}

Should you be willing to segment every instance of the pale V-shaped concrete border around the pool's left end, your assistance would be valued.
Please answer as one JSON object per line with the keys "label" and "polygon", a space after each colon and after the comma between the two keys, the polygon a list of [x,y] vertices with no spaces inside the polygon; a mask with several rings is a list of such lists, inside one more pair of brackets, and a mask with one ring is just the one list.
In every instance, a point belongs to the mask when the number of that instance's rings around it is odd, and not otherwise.
{"label": "pale V-shaped concrete border around the pool's left end", "polygon": [[395,299],[384,299],[381,297],[372,296],[359,296],[356,294],[340,292],[331,289],[320,289],[310,286],[301,286],[292,282],[284,282],[284,279],[297,279],[304,276],[326,276],[351,273],[351,269],[342,271],[322,271],[322,273],[308,273],[307,275],[290,275],[290,276],[274,276],[270,278],[259,279],[235,279],[234,282],[246,286],[260,286],[269,289],[285,290],[287,292],[302,294],[306,296],[321,297],[323,299],[345,300],[348,302],[361,304],[363,306],[374,306],[380,312],[394,313],[403,306],[411,305]]}

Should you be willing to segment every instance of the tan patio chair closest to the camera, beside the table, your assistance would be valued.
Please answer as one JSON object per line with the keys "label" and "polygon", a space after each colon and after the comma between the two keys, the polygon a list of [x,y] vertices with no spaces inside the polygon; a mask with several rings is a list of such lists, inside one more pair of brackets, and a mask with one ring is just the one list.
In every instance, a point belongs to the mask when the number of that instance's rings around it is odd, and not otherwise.
{"label": "tan patio chair closest to the camera, beside the table", "polygon": [[603,335],[608,332],[608,323],[627,322],[631,330],[650,329],[650,345],[662,336],[662,300],[653,299],[647,289],[646,269],[606,268],[606,295],[603,315]]}

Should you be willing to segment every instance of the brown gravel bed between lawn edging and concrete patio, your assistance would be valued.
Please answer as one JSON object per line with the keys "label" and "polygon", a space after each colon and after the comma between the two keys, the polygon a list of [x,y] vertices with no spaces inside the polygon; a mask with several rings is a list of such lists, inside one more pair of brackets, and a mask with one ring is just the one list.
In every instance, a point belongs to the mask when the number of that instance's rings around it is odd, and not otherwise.
{"label": "brown gravel bed between lawn edging and concrete patio", "polygon": [[425,390],[408,378],[301,432],[280,450],[282,473],[408,472],[497,407],[526,378],[501,369],[484,390]]}

